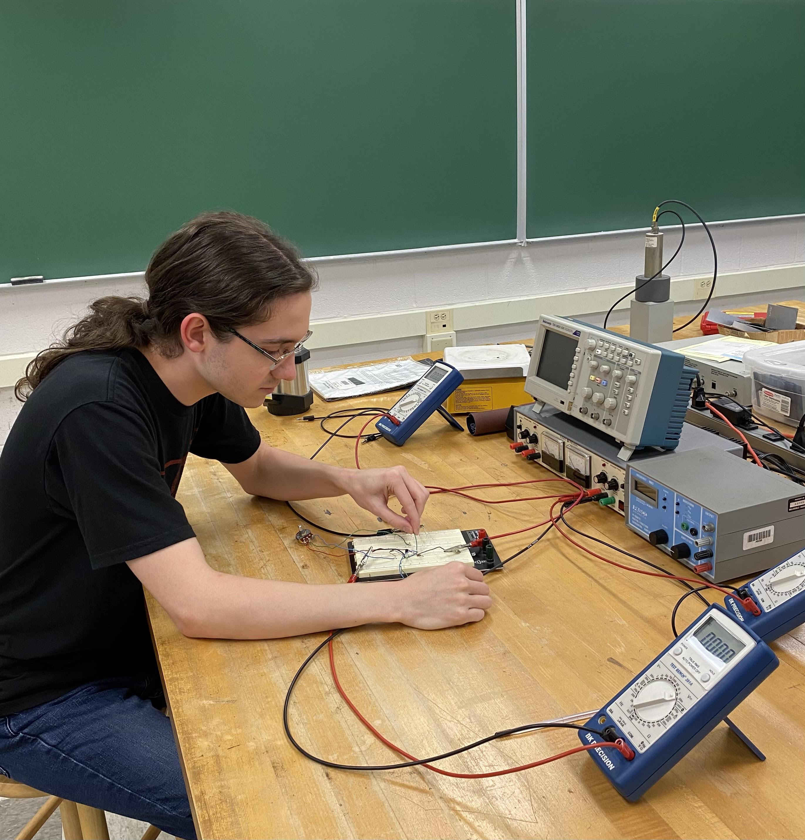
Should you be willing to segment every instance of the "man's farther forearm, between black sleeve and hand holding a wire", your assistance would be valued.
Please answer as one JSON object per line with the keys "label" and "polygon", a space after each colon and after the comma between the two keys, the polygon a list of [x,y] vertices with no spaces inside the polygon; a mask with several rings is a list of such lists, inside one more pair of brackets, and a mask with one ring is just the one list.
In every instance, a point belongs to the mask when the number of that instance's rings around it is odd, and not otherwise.
{"label": "man's farther forearm, between black sleeve and hand holding a wire", "polygon": [[266,448],[260,452],[255,475],[244,489],[255,496],[280,501],[324,499],[345,494],[345,470],[311,461],[282,449]]}

